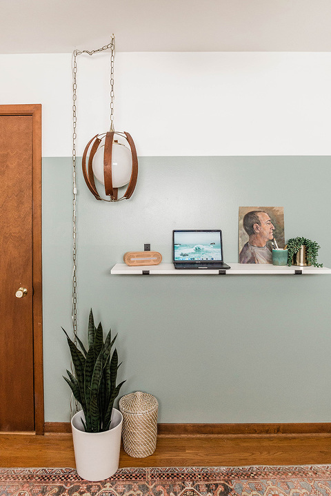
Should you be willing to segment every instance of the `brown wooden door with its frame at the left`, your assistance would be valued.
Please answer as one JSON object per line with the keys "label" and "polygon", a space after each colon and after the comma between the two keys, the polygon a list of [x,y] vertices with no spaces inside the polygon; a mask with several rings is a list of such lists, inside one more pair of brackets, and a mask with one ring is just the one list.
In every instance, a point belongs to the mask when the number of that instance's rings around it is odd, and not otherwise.
{"label": "brown wooden door with its frame at the left", "polygon": [[0,431],[43,433],[41,105],[0,105],[0,249]]}

